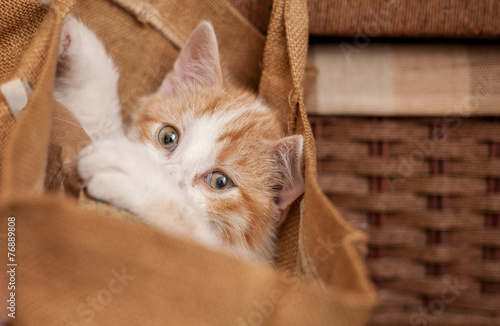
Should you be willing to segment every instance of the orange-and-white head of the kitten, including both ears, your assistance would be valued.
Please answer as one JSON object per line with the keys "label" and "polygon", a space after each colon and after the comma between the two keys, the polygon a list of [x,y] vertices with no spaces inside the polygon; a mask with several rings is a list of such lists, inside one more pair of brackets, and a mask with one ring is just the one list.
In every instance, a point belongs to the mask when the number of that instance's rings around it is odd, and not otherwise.
{"label": "orange-and-white head of the kitten, including both ears", "polygon": [[275,227],[303,191],[302,137],[283,137],[254,94],[228,87],[202,23],[159,90],[139,101],[130,135],[144,143],[228,248],[271,260]]}

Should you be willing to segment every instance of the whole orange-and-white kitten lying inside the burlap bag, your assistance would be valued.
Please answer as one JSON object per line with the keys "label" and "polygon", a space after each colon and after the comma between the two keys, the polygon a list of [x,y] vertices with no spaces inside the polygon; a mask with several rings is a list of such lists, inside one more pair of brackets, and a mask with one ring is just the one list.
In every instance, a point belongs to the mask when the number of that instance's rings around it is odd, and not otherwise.
{"label": "whole orange-and-white kitten lying inside the burlap bag", "polygon": [[195,29],[126,132],[101,42],[72,16],[61,39],[54,96],[96,141],[78,163],[88,194],[170,234],[272,262],[276,227],[303,193],[303,139],[284,137],[256,95],[227,84],[212,25]]}

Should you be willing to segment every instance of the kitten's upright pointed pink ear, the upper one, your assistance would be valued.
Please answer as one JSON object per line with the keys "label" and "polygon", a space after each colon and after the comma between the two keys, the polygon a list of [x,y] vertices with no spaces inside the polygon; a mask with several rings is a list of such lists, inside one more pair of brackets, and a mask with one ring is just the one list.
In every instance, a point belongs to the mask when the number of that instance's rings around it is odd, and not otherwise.
{"label": "kitten's upright pointed pink ear, the upper one", "polygon": [[223,85],[219,49],[212,24],[203,21],[191,33],[158,92],[170,97],[180,91]]}

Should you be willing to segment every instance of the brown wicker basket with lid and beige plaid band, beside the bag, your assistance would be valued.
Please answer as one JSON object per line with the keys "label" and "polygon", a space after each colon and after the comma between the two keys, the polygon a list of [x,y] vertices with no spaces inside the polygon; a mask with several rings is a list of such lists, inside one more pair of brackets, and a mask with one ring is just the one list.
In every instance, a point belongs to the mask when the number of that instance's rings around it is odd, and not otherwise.
{"label": "brown wicker basket with lid and beige plaid band, beside the bag", "polygon": [[[266,32],[271,0],[231,0]],[[319,183],[370,235],[371,325],[500,325],[500,2],[310,0]]]}

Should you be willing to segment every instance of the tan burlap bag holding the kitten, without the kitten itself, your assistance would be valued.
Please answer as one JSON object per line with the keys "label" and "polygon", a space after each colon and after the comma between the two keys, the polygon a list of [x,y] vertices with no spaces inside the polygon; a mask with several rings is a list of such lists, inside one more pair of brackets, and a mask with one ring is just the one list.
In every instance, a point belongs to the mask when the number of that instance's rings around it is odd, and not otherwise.
{"label": "tan burlap bag holding the kitten, without the kitten itself", "polygon": [[[24,81],[29,97],[16,118],[0,97],[0,225],[5,234],[15,217],[17,264],[16,318],[3,317],[13,325],[365,324],[376,304],[360,259],[365,235],[342,220],[316,180],[301,86],[306,1],[276,0],[267,39],[225,0],[74,2],[56,0],[50,9],[0,2],[0,84]],[[70,9],[121,71],[126,119],[133,101],[158,86],[191,30],[209,19],[226,69],[281,110],[284,128],[304,135],[305,194],[281,229],[276,266],[211,252],[116,208],[77,200],[72,168],[88,138],[52,98],[59,31]],[[5,239],[2,256],[12,263]],[[6,289],[2,282],[8,299]]]}

